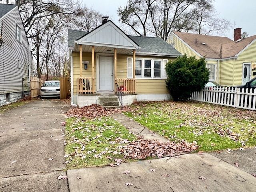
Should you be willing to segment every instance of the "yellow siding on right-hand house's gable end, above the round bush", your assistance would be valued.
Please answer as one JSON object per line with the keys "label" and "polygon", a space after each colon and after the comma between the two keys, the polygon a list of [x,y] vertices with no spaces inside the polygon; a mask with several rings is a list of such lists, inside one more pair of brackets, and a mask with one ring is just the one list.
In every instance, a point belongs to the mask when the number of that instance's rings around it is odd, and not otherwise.
{"label": "yellow siding on right-hand house's gable end, above the round bush", "polygon": [[198,54],[196,54],[193,50],[191,50],[186,44],[184,44],[179,38],[177,38],[174,34],[171,38],[168,38],[167,43],[174,43],[174,48],[180,52],[182,55],[187,54],[187,56],[196,56],[196,58],[200,58]]}

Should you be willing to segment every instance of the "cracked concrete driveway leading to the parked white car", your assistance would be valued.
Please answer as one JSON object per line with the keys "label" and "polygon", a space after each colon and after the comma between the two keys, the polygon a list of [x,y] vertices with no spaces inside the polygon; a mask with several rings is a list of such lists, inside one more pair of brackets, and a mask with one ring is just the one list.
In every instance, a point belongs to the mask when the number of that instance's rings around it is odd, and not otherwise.
{"label": "cracked concrete driveway leading to the parked white car", "polygon": [[[36,100],[0,116],[0,191],[68,192],[60,100]],[[49,160],[53,158],[53,160]]]}

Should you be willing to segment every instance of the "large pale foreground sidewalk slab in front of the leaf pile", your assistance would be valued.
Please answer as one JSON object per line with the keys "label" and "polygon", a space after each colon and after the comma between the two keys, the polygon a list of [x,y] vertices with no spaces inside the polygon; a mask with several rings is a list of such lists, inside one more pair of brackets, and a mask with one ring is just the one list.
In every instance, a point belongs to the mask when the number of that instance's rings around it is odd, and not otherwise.
{"label": "large pale foreground sidewalk slab in front of the leaf pile", "polygon": [[70,192],[255,192],[255,177],[219,158],[207,153],[179,157],[68,170]]}

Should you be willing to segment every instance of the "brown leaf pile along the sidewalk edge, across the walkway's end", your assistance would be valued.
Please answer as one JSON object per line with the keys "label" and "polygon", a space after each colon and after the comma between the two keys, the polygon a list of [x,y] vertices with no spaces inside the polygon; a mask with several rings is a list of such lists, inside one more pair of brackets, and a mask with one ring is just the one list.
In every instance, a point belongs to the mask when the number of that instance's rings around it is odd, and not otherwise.
{"label": "brown leaf pile along the sidewalk edge, across the walkway's end", "polygon": [[188,143],[185,141],[175,142],[161,142],[157,140],[136,140],[128,143],[121,152],[124,158],[131,159],[146,159],[147,157],[162,158],[165,155],[192,152],[197,150],[198,146],[194,143]]}

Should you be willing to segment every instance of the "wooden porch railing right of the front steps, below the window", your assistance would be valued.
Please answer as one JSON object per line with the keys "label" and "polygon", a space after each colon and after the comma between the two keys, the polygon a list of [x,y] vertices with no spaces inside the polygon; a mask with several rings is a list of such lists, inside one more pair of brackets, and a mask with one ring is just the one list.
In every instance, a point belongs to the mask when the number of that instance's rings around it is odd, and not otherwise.
{"label": "wooden porch railing right of the front steps, below the window", "polygon": [[[116,83],[118,84],[119,89],[123,94],[136,93],[135,79],[116,78]],[[117,90],[116,90],[116,92],[117,92]]]}

